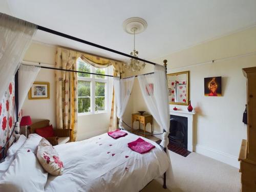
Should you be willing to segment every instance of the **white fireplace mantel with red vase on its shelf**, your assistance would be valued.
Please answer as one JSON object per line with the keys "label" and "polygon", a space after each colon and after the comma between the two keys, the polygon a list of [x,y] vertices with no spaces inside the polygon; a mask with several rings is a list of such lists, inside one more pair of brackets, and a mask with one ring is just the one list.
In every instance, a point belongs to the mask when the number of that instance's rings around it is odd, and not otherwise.
{"label": "white fireplace mantel with red vase on its shelf", "polygon": [[193,152],[193,116],[195,112],[170,110],[170,115],[187,117],[187,151]]}

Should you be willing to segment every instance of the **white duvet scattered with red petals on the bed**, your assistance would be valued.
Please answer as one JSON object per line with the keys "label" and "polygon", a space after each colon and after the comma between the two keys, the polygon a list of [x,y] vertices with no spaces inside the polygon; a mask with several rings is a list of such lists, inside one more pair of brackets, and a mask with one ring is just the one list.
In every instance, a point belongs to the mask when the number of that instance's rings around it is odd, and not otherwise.
{"label": "white duvet scattered with red petals on the bed", "polygon": [[61,176],[48,175],[45,191],[129,191],[141,190],[162,176],[169,166],[167,155],[157,143],[149,153],[132,151],[127,143],[139,136],[113,139],[103,134],[87,140],[54,146],[63,161]]}

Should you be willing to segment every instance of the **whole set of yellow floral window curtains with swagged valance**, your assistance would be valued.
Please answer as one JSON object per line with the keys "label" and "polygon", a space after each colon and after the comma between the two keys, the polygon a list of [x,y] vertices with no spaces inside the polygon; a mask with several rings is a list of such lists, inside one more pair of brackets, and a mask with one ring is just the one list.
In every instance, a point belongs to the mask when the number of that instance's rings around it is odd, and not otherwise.
{"label": "whole set of yellow floral window curtains with swagged valance", "polygon": [[[106,59],[88,53],[75,50],[57,48],[56,68],[77,70],[76,59],[81,58],[93,67],[102,69],[114,67],[114,76],[124,74],[123,63],[116,60]],[[56,71],[56,113],[57,128],[72,129],[71,141],[76,140],[77,135],[77,74],[66,71]],[[110,117],[110,130],[117,129],[117,116],[113,89],[112,108]]]}

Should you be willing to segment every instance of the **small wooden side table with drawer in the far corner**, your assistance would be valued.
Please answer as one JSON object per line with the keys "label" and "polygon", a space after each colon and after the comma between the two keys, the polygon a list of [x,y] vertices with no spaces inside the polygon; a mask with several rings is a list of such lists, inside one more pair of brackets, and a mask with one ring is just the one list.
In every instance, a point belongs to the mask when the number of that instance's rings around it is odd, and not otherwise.
{"label": "small wooden side table with drawer in the far corner", "polygon": [[[140,115],[139,113],[134,113],[132,114],[132,132],[134,132],[133,130],[133,122],[134,121],[139,121],[139,129],[136,130],[139,133],[143,133],[144,132],[144,137],[146,137],[146,124],[150,123],[151,124],[151,133],[153,133],[153,116],[150,114],[143,114]],[[143,124],[144,130],[140,129],[140,123]]]}

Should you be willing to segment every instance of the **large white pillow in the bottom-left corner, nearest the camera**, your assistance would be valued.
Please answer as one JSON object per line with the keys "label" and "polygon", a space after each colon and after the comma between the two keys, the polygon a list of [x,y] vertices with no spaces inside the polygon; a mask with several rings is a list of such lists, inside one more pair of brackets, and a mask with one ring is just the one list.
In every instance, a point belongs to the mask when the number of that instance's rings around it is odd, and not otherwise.
{"label": "large white pillow in the bottom-left corner, nearest the camera", "polygon": [[17,151],[16,158],[0,180],[0,191],[44,191],[47,175],[34,153]]}

